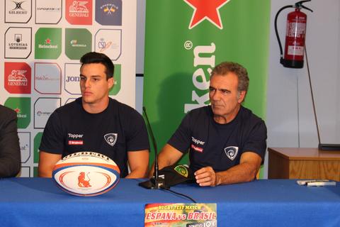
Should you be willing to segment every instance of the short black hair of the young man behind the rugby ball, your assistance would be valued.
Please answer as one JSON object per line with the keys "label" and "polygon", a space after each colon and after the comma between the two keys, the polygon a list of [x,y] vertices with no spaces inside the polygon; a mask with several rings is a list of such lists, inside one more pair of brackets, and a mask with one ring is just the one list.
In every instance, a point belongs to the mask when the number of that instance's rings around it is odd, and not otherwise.
{"label": "short black hair of the young man behind the rugby ball", "polygon": [[81,66],[91,63],[103,64],[106,67],[106,79],[113,77],[113,72],[115,72],[115,66],[113,65],[110,57],[100,52],[88,52],[81,57],[80,62]]}

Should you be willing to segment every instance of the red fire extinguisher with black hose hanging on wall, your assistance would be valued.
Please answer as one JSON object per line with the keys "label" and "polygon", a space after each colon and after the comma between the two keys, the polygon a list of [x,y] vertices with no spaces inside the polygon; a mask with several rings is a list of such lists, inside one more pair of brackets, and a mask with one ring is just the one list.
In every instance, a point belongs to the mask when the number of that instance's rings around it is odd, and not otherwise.
{"label": "red fire extinguisher with black hose hanging on wall", "polygon": [[[303,67],[303,55],[305,51],[305,37],[306,37],[306,24],[307,15],[302,13],[300,10],[308,9],[302,4],[306,1],[298,1],[295,5],[283,6],[275,16],[275,32],[276,38],[278,38],[278,45],[280,46],[280,63],[284,67],[288,68],[302,68]],[[278,14],[283,9],[295,8],[295,11],[288,13],[287,15],[287,26],[285,31],[285,56],[283,57],[282,45],[280,37],[278,36]]]}

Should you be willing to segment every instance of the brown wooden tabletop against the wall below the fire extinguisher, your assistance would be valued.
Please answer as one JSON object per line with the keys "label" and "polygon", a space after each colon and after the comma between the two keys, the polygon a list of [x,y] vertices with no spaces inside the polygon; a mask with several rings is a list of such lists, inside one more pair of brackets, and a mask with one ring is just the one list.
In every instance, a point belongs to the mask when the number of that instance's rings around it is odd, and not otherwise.
{"label": "brown wooden tabletop against the wall below the fire extinguisher", "polygon": [[319,150],[318,148],[268,148],[288,160],[340,160],[340,150]]}

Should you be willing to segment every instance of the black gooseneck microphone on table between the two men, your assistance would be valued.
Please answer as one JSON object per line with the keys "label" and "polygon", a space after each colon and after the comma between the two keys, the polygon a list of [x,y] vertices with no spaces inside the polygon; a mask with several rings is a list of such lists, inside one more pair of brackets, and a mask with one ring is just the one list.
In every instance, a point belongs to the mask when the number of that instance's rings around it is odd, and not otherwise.
{"label": "black gooseneck microphone on table between the two men", "polygon": [[143,112],[145,115],[145,119],[147,121],[147,128],[149,129],[149,133],[151,136],[152,144],[154,145],[154,177],[147,180],[146,182],[140,182],[138,185],[140,187],[145,187],[146,189],[164,189],[164,178],[159,178],[158,175],[158,153],[157,153],[157,143],[154,139],[154,133],[152,133],[152,128],[149,122],[149,118],[147,117],[147,109],[145,109],[145,106],[143,106]]}

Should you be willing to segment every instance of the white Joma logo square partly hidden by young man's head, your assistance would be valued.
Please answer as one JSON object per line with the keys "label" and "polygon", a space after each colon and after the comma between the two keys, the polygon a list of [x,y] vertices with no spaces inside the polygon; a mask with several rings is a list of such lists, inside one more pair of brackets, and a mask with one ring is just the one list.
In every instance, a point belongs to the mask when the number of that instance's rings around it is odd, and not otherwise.
{"label": "white Joma logo square partly hidden by young man's head", "polygon": [[64,90],[69,94],[81,94],[79,69],[81,64],[65,63],[64,70]]}

